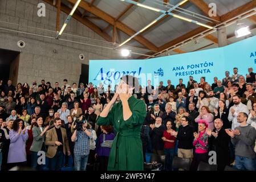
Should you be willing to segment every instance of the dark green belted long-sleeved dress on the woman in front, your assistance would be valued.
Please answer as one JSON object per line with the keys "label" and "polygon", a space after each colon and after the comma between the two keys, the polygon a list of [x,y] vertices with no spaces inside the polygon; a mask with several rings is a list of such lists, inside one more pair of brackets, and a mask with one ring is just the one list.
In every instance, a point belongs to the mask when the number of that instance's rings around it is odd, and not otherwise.
{"label": "dark green belted long-sleeved dress on the woman in front", "polygon": [[108,159],[108,171],[142,171],[143,148],[140,139],[142,123],[146,117],[144,101],[131,96],[128,99],[132,116],[124,121],[123,106],[114,104],[107,117],[99,117],[97,125],[112,125],[116,131]]}

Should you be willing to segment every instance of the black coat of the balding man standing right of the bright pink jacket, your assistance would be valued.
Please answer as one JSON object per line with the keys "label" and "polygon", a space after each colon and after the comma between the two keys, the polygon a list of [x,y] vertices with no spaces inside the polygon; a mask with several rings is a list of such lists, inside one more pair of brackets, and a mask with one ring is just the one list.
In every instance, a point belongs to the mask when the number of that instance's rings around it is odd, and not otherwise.
{"label": "black coat of the balding man standing right of the bright pink jacket", "polygon": [[[213,132],[216,133],[216,129]],[[229,164],[229,142],[230,137],[223,127],[218,132],[217,138],[213,137],[213,135],[208,138],[209,150],[216,151],[217,154],[218,170],[223,171],[225,166]]]}

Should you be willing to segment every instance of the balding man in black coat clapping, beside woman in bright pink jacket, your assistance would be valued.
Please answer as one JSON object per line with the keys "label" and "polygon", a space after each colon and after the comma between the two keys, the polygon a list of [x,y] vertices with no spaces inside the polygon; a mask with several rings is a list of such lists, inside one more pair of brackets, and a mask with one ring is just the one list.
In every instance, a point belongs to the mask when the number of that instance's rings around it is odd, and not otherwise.
{"label": "balding man in black coat clapping, beside woman in bright pink jacket", "polygon": [[230,137],[224,130],[223,122],[220,118],[214,120],[215,129],[210,131],[206,130],[209,135],[209,150],[216,151],[218,171],[224,171],[225,166],[229,164],[229,142]]}

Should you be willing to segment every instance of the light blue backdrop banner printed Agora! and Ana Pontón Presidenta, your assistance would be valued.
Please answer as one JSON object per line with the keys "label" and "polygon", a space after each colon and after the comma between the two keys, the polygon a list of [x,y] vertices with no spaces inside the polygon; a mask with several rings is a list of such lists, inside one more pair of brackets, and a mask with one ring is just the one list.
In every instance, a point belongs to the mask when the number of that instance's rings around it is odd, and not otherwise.
{"label": "light blue backdrop banner printed Agora! and Ana Pont\u00f3n Presidenta", "polygon": [[[256,36],[226,47],[208,49],[205,51],[183,53],[157,57],[148,60],[90,60],[89,81],[98,85],[115,85],[123,75],[139,77],[140,84],[146,86],[146,80],[152,80],[152,85],[170,79],[172,84],[178,84],[182,78],[187,84],[189,76],[200,81],[205,76],[206,81],[212,84],[213,77],[225,77],[225,71],[233,74],[233,68],[238,68],[238,73],[245,75],[249,67],[256,63]],[[210,80],[209,80],[210,79]],[[155,82],[155,83],[154,83]]]}

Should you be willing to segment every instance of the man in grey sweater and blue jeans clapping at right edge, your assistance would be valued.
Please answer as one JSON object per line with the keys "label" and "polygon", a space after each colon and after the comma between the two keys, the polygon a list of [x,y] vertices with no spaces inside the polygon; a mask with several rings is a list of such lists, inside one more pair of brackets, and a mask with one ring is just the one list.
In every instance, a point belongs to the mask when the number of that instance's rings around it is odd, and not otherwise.
{"label": "man in grey sweater and blue jeans clapping at right edge", "polygon": [[240,126],[234,130],[226,129],[226,133],[231,137],[231,142],[235,146],[235,168],[239,170],[256,170],[255,163],[255,139],[256,130],[254,127],[247,125],[248,115],[239,113],[237,122]]}

